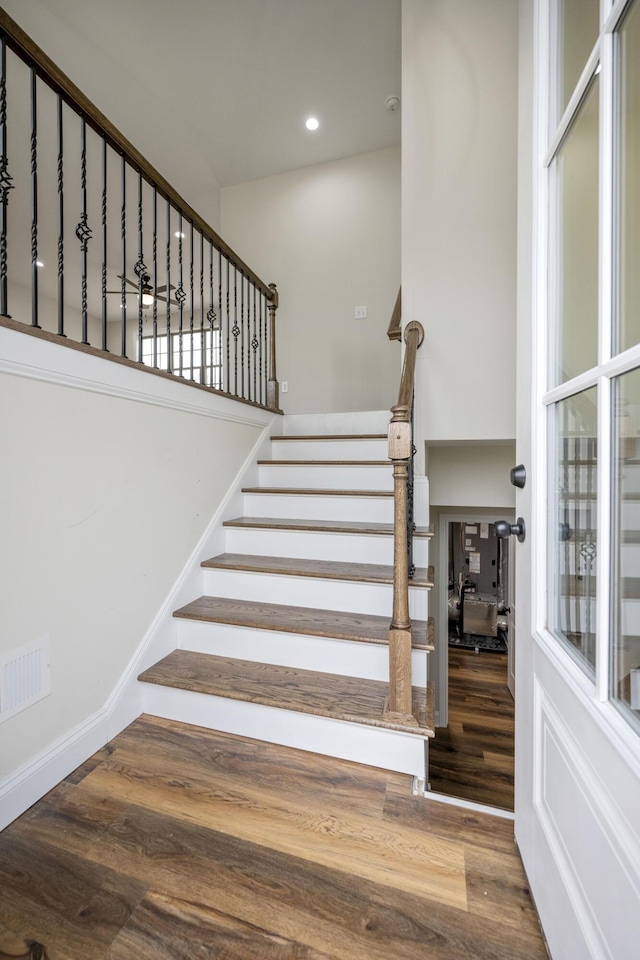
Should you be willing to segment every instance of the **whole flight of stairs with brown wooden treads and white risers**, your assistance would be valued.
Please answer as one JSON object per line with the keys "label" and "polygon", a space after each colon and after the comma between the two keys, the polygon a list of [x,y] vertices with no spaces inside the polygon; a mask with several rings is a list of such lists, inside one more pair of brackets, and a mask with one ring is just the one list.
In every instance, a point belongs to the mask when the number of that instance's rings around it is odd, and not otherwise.
{"label": "whole flight of stairs with brown wooden treads and white risers", "polygon": [[284,435],[271,438],[258,486],[243,489],[245,515],[224,524],[226,552],[202,563],[204,595],[174,613],[177,649],[139,677],[145,710],[423,779],[434,733],[429,531],[416,531],[409,589],[409,725],[383,718],[393,583],[386,424],[309,435],[315,422],[285,417]]}

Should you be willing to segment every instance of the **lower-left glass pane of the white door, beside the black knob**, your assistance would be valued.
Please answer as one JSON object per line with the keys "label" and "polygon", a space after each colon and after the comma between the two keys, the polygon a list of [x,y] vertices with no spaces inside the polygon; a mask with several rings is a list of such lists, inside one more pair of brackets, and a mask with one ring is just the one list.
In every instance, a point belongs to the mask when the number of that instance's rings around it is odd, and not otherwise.
{"label": "lower-left glass pane of the white door, beside the black knob", "polygon": [[595,668],[597,392],[551,408],[549,629],[588,673]]}

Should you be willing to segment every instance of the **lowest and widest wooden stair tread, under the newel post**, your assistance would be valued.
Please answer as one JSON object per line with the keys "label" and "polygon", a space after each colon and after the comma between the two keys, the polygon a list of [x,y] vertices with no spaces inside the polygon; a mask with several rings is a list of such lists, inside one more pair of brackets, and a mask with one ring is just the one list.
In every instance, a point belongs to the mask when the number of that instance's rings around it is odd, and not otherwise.
{"label": "lowest and widest wooden stair tread, under the newel post", "polygon": [[174,650],[138,677],[145,683],[177,687],[209,696],[259,703],[298,713],[399,730],[421,737],[434,735],[433,688],[413,688],[417,726],[383,720],[389,685],[362,677],[214,657]]}

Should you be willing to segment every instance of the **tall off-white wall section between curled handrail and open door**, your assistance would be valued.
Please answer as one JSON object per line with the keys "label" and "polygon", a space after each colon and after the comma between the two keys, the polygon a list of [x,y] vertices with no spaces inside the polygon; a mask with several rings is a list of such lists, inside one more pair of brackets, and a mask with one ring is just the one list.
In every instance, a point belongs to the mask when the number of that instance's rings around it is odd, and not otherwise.
{"label": "tall off-white wall section between curled handrail and open door", "polygon": [[403,0],[403,321],[425,440],[515,435],[518,4]]}

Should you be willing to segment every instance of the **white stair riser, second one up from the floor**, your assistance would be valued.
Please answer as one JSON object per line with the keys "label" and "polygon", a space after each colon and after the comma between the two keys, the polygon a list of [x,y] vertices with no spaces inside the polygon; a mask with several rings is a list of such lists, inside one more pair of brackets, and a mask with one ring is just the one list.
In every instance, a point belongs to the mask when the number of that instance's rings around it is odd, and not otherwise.
{"label": "white stair riser, second one up from the floor", "polygon": [[[319,670],[345,677],[389,680],[389,650],[383,644],[309,637],[197,620],[177,622],[178,646],[181,650],[273,663],[299,670]],[[424,650],[412,651],[411,675],[414,686],[426,685],[427,654]]]}

